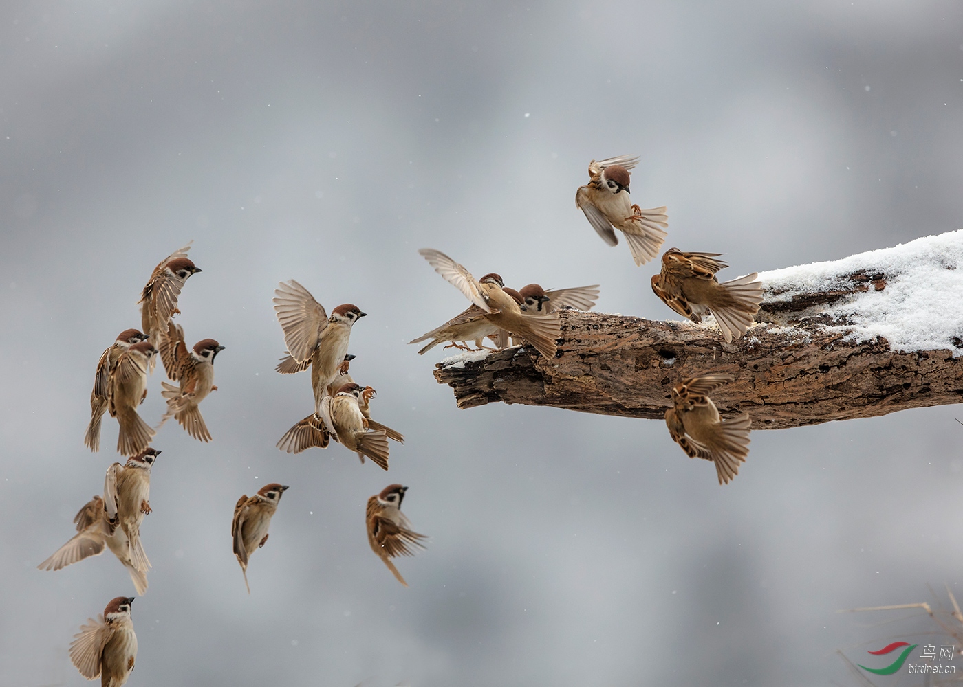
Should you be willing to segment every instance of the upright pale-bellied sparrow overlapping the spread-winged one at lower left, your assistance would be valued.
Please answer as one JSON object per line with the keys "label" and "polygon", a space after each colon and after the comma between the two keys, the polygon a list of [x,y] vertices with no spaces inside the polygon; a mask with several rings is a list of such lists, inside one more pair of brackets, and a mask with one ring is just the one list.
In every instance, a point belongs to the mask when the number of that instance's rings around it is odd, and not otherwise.
{"label": "upright pale-bellied sparrow overlapping the spread-winged one at lower left", "polygon": [[141,544],[141,522],[150,513],[150,469],[161,452],[144,448],[127,459],[126,465],[115,463],[107,469],[104,480],[104,512],[112,525],[123,529],[130,543],[131,560],[139,571],[146,572],[150,561]]}

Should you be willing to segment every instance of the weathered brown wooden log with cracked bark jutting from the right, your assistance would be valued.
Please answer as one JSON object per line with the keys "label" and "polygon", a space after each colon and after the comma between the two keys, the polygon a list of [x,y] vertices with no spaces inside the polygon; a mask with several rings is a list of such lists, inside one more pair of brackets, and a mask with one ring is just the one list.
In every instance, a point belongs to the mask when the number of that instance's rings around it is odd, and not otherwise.
{"label": "weathered brown wooden log with cracked bark jutting from the right", "polygon": [[[935,260],[939,269],[954,269],[963,260],[963,232],[931,240],[947,237],[959,244],[958,253],[950,251],[947,258],[947,251],[937,251],[921,261]],[[898,246],[904,249],[899,255],[907,246]],[[823,267],[832,276],[811,280],[820,285],[819,291],[800,289],[795,272],[793,279],[780,274],[786,270],[770,272],[768,279],[760,275],[765,297],[756,319],[765,323],[757,323],[732,344],[722,340],[711,319],[695,324],[564,311],[555,359],[516,346],[483,358],[455,356],[438,364],[434,375],[455,390],[459,408],[502,401],[662,420],[673,384],[707,372],[728,372],[736,381],[714,394],[716,405],[723,415],[748,412],[753,429],[963,402],[959,306],[949,308],[949,317],[959,318],[950,322],[950,330],[958,325],[959,334],[950,337],[945,349],[906,350],[903,344],[898,350],[881,336],[865,334],[861,309],[872,311],[879,301],[861,301],[860,294],[883,292],[894,280],[917,278],[909,271],[921,264],[875,255],[885,253],[807,266],[809,272]],[[832,272],[834,266],[851,268],[854,258],[865,256],[875,256],[875,262],[862,261],[870,267]],[[906,288],[900,283],[902,287],[894,288]],[[963,299],[963,291],[946,297]]]}

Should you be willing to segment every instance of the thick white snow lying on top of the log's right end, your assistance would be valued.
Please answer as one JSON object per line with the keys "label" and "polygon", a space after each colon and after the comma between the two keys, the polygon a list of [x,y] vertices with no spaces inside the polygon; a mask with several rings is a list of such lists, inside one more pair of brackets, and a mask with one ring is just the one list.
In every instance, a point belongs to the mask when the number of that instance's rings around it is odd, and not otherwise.
{"label": "thick white snow lying on top of the log's right end", "polygon": [[[885,337],[892,350],[950,349],[963,355],[963,230],[928,236],[842,260],[760,272],[768,302],[851,288],[854,272],[886,275],[886,287],[855,293],[825,309],[858,342]],[[778,294],[773,294],[776,292]],[[956,339],[956,344],[953,339]]]}

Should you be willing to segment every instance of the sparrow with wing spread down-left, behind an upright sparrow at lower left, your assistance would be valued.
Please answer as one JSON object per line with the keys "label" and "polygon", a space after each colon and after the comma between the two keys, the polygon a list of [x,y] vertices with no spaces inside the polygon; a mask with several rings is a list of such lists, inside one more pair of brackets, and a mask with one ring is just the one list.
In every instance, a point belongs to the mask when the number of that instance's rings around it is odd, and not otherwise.
{"label": "sparrow with wing spread down-left, behind an upright sparrow at lower left", "polygon": [[41,571],[59,571],[91,556],[99,556],[109,547],[117,560],[123,564],[134,582],[137,593],[143,597],[147,591],[147,575],[134,565],[130,541],[123,528],[107,519],[104,499],[94,496],[74,517],[77,534],[37,568]]}

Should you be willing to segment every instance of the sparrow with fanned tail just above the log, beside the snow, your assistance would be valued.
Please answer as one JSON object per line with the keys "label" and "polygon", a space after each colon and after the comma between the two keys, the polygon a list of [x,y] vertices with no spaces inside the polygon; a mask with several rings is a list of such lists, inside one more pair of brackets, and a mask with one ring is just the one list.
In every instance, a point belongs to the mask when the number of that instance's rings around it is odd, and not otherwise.
{"label": "sparrow with fanned tail just above the log, beside the snow", "polygon": [[752,316],[759,312],[763,300],[763,285],[753,281],[756,272],[719,284],[716,272],[729,267],[716,260],[719,255],[669,248],[663,255],[662,271],[652,277],[652,291],[665,305],[693,322],[701,322],[702,315],[712,313],[729,344],[752,326]]}

